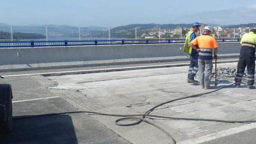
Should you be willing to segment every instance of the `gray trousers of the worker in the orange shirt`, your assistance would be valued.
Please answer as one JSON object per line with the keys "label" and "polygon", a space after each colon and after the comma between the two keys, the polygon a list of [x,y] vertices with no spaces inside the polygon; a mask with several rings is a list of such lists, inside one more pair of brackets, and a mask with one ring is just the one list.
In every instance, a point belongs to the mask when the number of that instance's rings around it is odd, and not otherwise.
{"label": "gray trousers of the worker in the orange shirt", "polygon": [[201,87],[209,87],[211,81],[212,60],[198,59],[198,74]]}

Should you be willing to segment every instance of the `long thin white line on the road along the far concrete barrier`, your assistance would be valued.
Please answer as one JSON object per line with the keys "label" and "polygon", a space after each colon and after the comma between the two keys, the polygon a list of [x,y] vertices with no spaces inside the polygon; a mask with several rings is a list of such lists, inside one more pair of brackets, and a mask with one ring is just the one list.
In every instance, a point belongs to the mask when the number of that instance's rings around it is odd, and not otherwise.
{"label": "long thin white line on the road along the far concrete barrier", "polygon": [[[238,61],[238,60],[225,60],[225,61],[218,61],[218,63],[223,63],[223,62],[234,62],[234,61]],[[117,71],[117,70],[129,70],[129,69],[136,69],[136,68],[150,68],[150,67],[177,67],[177,66],[186,66],[189,63],[177,63],[177,64],[166,64],[166,65],[147,65],[147,66],[136,66],[136,67],[118,67],[118,68],[108,68],[108,69],[95,69],[95,70],[75,70],[75,71],[63,71],[63,72],[46,72],[46,73],[33,73],[33,74],[15,74],[15,75],[6,75],[6,76],[2,76],[2,77],[18,77],[18,76],[33,76],[33,75],[61,75],[61,74],[65,74],[65,73],[97,73],[97,72],[109,72],[109,71]]]}

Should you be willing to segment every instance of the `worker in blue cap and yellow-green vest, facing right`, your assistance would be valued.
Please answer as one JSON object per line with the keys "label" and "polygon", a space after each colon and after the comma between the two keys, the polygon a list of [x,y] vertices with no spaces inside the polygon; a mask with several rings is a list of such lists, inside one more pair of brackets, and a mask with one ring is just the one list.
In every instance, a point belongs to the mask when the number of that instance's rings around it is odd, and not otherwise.
{"label": "worker in blue cap and yellow-green vest, facing right", "polygon": [[200,28],[201,24],[194,22],[192,24],[192,29],[187,33],[183,51],[189,53],[189,73],[188,73],[188,83],[198,84],[198,81],[194,79],[198,71],[198,53],[195,49],[192,49],[189,43],[196,38],[195,32]]}

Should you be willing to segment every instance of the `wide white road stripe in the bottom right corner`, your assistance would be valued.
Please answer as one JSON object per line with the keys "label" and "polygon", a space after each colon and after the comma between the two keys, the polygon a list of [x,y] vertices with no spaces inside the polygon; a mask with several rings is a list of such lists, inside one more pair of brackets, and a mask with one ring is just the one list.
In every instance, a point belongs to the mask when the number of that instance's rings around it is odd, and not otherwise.
{"label": "wide white road stripe in the bottom right corner", "polygon": [[224,131],[219,131],[219,132],[216,132],[216,133],[208,134],[208,135],[201,136],[201,137],[198,137],[198,138],[193,138],[193,139],[181,141],[181,142],[178,142],[177,144],[203,143],[203,142],[211,141],[211,140],[214,140],[214,139],[217,139],[217,138],[222,138],[222,137],[229,136],[229,135],[232,135],[232,134],[237,134],[239,132],[247,131],[247,130],[254,129],[254,128],[256,128],[256,123],[251,123],[251,124],[243,125],[243,126],[240,126],[240,127],[234,127],[234,128],[227,129],[227,130],[224,130]]}

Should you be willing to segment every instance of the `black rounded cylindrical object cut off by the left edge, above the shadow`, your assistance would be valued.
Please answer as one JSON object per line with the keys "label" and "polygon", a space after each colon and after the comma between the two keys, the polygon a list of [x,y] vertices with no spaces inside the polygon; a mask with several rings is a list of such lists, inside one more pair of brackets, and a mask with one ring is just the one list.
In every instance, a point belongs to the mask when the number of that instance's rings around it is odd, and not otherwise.
{"label": "black rounded cylindrical object cut off by the left edge, above the shadow", "polygon": [[0,84],[0,133],[12,131],[12,87],[10,84]]}

